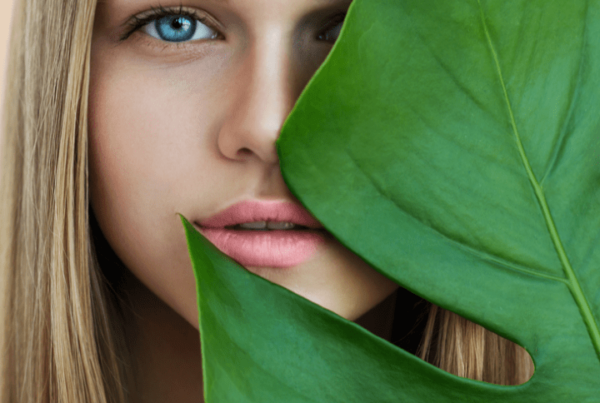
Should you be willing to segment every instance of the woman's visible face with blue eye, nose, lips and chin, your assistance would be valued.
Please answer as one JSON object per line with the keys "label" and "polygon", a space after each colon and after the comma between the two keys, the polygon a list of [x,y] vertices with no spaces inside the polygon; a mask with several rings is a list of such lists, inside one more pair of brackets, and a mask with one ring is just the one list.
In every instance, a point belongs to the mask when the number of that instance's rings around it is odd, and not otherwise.
{"label": "woman's visible face with blue eye, nose, lips and chin", "polygon": [[[217,222],[220,235],[207,237],[246,269],[347,319],[397,287],[322,229],[229,227],[245,219],[278,228],[306,216],[286,209],[300,204],[282,179],[275,141],[331,50],[349,3],[162,0],[157,9],[151,0],[99,2],[89,109],[92,208],[124,264],[196,327],[178,214],[205,234],[202,226]],[[173,15],[154,14],[163,11]],[[233,222],[212,219],[232,206],[241,212],[225,212]],[[280,251],[283,244],[289,248]]]}

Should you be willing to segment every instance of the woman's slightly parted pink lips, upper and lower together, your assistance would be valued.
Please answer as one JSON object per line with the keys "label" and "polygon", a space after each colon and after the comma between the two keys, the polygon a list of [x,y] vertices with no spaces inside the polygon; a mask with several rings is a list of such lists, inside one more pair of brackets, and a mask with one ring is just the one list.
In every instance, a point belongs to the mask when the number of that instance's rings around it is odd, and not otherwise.
{"label": "woman's slightly parted pink lips, upper and lower together", "polygon": [[[251,231],[225,228],[255,221],[292,222],[305,230]],[[322,225],[292,202],[246,200],[199,221],[199,230],[243,266],[292,267],[310,259],[325,242]]]}

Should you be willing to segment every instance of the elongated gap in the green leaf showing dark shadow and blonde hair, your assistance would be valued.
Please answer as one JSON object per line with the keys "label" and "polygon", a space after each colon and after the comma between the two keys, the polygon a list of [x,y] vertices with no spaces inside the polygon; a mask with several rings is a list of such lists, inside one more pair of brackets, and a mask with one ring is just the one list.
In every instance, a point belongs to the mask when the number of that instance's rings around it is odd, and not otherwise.
{"label": "elongated gap in the green leaf showing dark shadow and blonde hair", "polygon": [[521,346],[403,288],[356,323],[463,378],[520,385],[534,372],[531,356]]}

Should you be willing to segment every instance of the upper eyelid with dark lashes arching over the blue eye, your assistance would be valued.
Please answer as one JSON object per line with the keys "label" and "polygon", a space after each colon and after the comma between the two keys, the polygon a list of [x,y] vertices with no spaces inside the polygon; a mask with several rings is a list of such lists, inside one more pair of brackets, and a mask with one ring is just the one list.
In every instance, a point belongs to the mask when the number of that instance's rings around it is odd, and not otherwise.
{"label": "upper eyelid with dark lashes arching over the blue eye", "polygon": [[179,7],[152,7],[150,10],[143,11],[139,14],[132,16],[124,25],[125,32],[120,37],[120,41],[125,41],[129,39],[131,35],[135,32],[139,31],[141,28],[145,27],[148,24],[153,23],[154,21],[159,20],[165,16],[187,16],[190,18],[194,18],[200,23],[206,25],[210,29],[214,30],[217,33],[217,38],[224,37],[221,33],[223,30],[223,26],[212,18],[209,14],[204,13],[198,9],[179,6]]}

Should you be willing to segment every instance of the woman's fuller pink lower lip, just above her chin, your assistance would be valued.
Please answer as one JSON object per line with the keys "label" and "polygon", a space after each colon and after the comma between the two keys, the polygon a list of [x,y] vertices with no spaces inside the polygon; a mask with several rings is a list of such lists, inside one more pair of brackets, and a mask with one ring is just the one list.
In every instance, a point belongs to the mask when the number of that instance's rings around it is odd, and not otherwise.
{"label": "woman's fuller pink lower lip, just above her chin", "polygon": [[242,266],[286,268],[310,259],[325,242],[318,230],[252,231],[201,228],[200,233]]}

